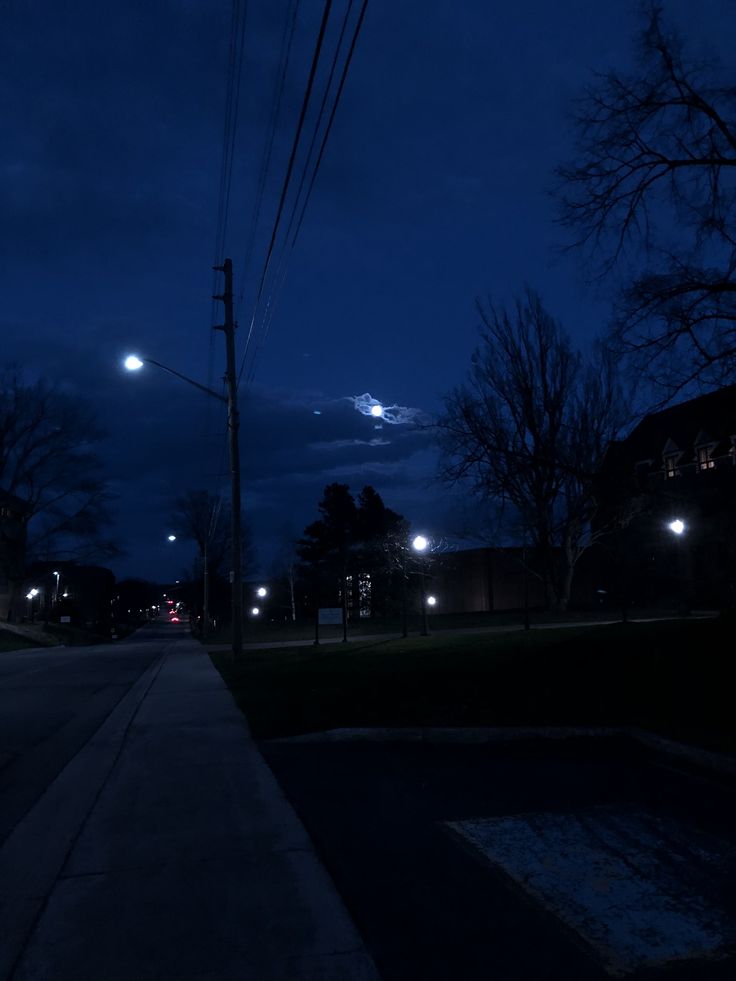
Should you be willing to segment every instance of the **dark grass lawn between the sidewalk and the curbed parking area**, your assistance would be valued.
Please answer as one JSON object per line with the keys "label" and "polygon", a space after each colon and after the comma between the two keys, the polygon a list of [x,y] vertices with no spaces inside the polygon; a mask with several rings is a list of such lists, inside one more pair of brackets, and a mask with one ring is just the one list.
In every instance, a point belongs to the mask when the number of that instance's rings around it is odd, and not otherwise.
{"label": "dark grass lawn between the sidewalk and the curbed parking area", "polygon": [[257,738],[364,726],[637,725],[736,752],[733,624],[680,620],[211,655]]}

